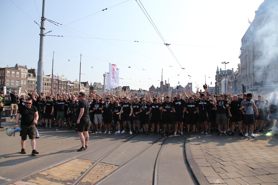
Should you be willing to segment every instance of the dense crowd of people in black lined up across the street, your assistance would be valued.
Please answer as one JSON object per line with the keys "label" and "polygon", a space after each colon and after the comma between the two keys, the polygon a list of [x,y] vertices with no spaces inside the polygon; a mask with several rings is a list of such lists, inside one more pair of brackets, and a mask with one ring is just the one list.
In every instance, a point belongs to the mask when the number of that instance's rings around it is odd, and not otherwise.
{"label": "dense crowd of people in black lined up across the street", "polygon": [[[38,95],[36,89],[29,93],[25,90],[26,97],[32,98],[33,105],[38,109],[37,127],[42,127],[45,120],[44,128],[52,128],[56,122],[56,130],[68,126],[69,130],[77,130],[71,116],[79,106],[79,92],[74,95],[64,93],[62,89],[60,91],[56,94],[50,90],[48,94],[42,92]],[[19,97],[17,92],[10,94],[19,98],[19,106],[24,105],[24,95]],[[111,134],[115,128],[115,134],[129,132],[183,136],[184,132],[196,134],[199,131],[205,135],[218,132],[218,136],[229,136],[238,129],[240,136],[248,136],[250,132],[255,137],[254,133],[263,133],[267,126],[271,128],[278,119],[277,93],[272,96],[271,93],[264,96],[264,92],[259,95],[232,95],[229,92],[215,95],[207,90],[197,90],[196,93],[183,90],[183,93],[174,95],[119,93],[116,96],[113,93],[99,95],[94,92],[85,95],[84,99],[89,103],[89,132],[94,134]],[[17,109],[15,105],[11,107]]]}

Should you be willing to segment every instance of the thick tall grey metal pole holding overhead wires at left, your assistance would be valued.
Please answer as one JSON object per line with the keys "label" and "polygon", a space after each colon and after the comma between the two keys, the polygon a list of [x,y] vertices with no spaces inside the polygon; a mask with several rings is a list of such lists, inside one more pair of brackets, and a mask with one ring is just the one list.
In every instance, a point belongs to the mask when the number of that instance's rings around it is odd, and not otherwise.
{"label": "thick tall grey metal pole holding overhead wires at left", "polygon": [[43,84],[43,45],[44,45],[44,9],[45,9],[45,0],[42,1],[42,17],[40,22],[40,51],[39,51],[39,61],[38,61],[38,75],[37,75],[37,93],[42,93],[42,84]]}

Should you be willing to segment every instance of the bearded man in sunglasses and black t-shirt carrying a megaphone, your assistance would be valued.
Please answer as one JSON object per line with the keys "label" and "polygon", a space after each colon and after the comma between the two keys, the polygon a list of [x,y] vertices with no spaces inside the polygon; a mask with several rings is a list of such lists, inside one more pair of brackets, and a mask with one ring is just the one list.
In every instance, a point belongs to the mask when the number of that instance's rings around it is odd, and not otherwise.
{"label": "bearded man in sunglasses and black t-shirt carrying a megaphone", "polygon": [[[32,146],[32,155],[38,154],[36,151],[36,141],[35,141],[35,134],[36,134],[36,124],[38,122],[38,109],[35,106],[32,106],[32,99],[28,98],[24,106],[19,107],[17,111],[17,117],[15,118],[15,128],[18,127],[18,120],[21,115],[21,153],[25,154],[25,141],[27,139],[27,135],[31,140]],[[35,119],[34,119],[35,118]]]}

